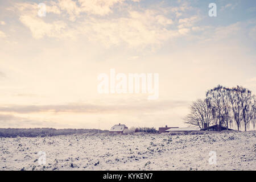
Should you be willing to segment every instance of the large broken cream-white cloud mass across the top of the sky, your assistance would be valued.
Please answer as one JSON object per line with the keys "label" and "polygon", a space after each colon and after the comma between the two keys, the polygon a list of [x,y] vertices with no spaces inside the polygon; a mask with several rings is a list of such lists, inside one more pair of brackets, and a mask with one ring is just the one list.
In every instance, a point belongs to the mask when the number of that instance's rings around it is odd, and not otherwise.
{"label": "large broken cream-white cloud mass across the top of the sky", "polygon": [[[162,9],[139,9],[119,7],[124,11],[115,16],[103,16],[113,13],[114,5],[122,4],[123,0],[84,1],[60,0],[57,3],[47,2],[47,12],[59,15],[57,20],[37,16],[36,4],[17,4],[20,11],[20,22],[27,26],[35,39],[85,37],[90,42],[101,43],[105,47],[127,44],[129,47],[159,47],[167,40],[186,35],[190,27],[199,20],[198,16],[179,19],[178,28],[174,20],[167,18],[168,11]],[[172,11],[185,11],[188,5],[181,5]],[[65,12],[65,13],[63,13]],[[86,14],[83,14],[86,13]],[[91,16],[88,16],[92,14]],[[68,15],[68,19],[66,18]],[[48,16],[48,15],[46,15]],[[51,21],[52,20],[52,21]],[[73,23],[68,22],[71,20]]]}

